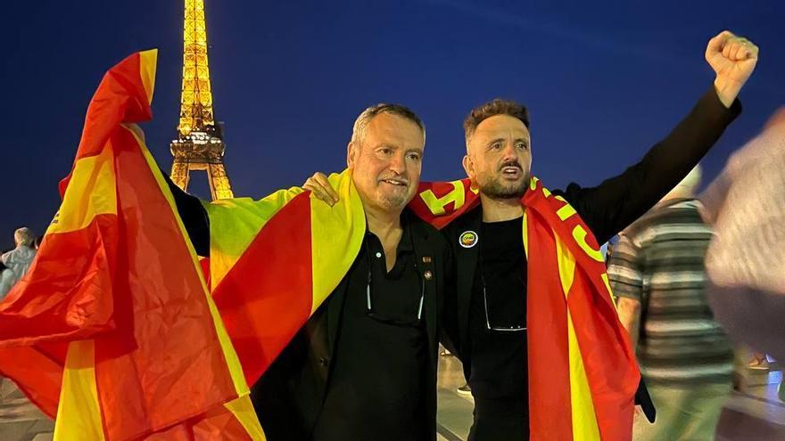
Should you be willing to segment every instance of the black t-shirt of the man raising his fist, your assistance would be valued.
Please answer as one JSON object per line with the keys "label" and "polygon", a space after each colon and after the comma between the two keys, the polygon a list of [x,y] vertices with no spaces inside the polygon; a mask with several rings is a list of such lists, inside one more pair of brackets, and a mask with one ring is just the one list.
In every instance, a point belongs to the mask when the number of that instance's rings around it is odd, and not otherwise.
{"label": "black t-shirt of the man raising his fist", "polygon": [[[504,402],[509,416],[528,418],[526,331],[498,331],[526,326],[526,256],[520,217],[484,223],[469,313],[471,378],[469,384],[483,412],[483,402]],[[484,285],[484,290],[483,290]],[[487,311],[487,314],[486,314]],[[488,329],[490,327],[492,329]],[[499,415],[497,409],[494,414]]]}

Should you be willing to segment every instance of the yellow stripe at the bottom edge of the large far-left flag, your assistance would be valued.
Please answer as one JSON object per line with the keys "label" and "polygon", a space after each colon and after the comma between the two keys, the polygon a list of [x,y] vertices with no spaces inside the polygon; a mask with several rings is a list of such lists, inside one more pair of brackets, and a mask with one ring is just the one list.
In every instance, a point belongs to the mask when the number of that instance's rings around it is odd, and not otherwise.
{"label": "yellow stripe at the bottom edge of the large far-left flag", "polygon": [[72,341],[62,372],[54,441],[103,440],[101,407],[95,387],[95,342]]}

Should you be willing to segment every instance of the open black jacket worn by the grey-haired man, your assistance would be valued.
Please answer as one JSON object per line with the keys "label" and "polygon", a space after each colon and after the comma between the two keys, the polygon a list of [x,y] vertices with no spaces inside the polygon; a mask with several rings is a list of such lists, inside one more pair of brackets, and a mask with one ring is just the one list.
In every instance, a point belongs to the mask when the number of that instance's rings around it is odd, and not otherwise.
{"label": "open black jacket worn by the grey-haired man", "polygon": [[[452,280],[450,248],[442,234],[431,225],[404,211],[409,216],[409,228],[414,242],[419,270],[431,271],[433,278],[425,284],[423,317],[428,339],[428,372],[426,380],[426,409],[429,437],[436,433],[436,364],[438,330],[446,286]],[[423,259],[423,257],[431,257]],[[252,388],[252,402],[261,425],[270,441],[310,439],[326,397],[332,373],[331,360],[335,354],[347,278],[333,291],[316,313],[311,316],[291,343],[273,362]],[[451,285],[450,285],[451,286]],[[454,297],[454,294],[451,295]],[[367,372],[373,378],[375,372]],[[379,385],[392,387],[392,385]],[[361,423],[361,422],[359,422]],[[373,421],[368,421],[373,425]]]}

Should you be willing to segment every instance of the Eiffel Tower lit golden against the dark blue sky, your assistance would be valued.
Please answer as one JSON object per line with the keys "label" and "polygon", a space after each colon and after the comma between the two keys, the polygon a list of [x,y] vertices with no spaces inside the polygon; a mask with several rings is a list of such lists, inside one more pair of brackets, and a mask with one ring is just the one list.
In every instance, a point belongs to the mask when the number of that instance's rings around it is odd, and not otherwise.
{"label": "Eiffel Tower lit golden against the dark blue sky", "polygon": [[207,30],[204,1],[186,0],[183,44],[183,93],[180,98],[178,138],[169,148],[172,181],[187,190],[191,171],[204,170],[212,200],[234,197],[224,166],[223,130],[212,113],[210,68],[207,63]]}

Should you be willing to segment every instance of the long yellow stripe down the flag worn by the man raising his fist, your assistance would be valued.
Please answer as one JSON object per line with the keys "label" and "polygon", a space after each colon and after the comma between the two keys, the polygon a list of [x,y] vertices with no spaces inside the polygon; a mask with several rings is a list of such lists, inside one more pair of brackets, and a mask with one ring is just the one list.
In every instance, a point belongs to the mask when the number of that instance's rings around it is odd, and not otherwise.
{"label": "long yellow stripe down the flag worn by the man raising his fist", "polygon": [[[573,287],[575,277],[575,257],[567,249],[564,242],[556,238],[556,253],[558,259],[558,275],[561,281],[565,298]],[[570,404],[572,405],[573,439],[582,441],[599,441],[599,426],[594,413],[594,403],[591,399],[591,389],[586,370],[583,366],[583,355],[578,345],[572,315],[567,309],[567,344],[569,347],[570,363]]]}

